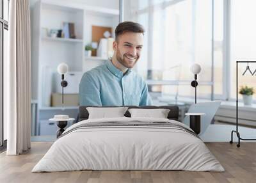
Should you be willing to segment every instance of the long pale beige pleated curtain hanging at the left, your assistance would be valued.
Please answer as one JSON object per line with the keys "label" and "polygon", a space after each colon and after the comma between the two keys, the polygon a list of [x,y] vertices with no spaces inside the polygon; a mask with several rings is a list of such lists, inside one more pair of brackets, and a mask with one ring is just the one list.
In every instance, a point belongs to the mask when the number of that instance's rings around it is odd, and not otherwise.
{"label": "long pale beige pleated curtain hanging at the left", "polygon": [[30,148],[31,42],[28,0],[10,1],[8,61],[4,69],[4,120],[7,152],[18,155]]}

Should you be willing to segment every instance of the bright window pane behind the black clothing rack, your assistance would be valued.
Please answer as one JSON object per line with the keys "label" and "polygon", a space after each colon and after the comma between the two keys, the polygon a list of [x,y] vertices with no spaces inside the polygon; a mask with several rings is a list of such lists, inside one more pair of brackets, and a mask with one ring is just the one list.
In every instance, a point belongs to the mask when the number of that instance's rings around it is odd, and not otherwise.
{"label": "bright window pane behind the black clothing rack", "polygon": [[[231,22],[230,22],[230,99],[236,98],[236,61],[237,60],[256,60],[256,25],[254,19],[256,1],[236,0],[231,1]],[[239,64],[238,86],[248,85],[255,88],[255,76],[245,74],[242,76],[247,64]],[[250,63],[252,72],[256,69],[255,63]],[[241,95],[239,95],[241,97]],[[253,95],[255,97],[255,95]],[[254,98],[255,99],[255,98]]]}

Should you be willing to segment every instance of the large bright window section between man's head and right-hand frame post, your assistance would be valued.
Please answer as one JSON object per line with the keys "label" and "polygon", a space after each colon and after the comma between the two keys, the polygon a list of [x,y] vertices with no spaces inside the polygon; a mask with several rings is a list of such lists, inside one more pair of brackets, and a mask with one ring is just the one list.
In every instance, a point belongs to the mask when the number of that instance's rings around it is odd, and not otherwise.
{"label": "large bright window section between man's head and right-hand frame post", "polygon": [[212,1],[129,0],[126,3],[125,10],[129,13],[124,13],[127,15],[124,19],[139,22],[146,29],[145,50],[136,70],[145,79],[163,81],[161,87],[148,88],[164,95],[175,96],[179,92],[179,96],[193,97],[190,66],[199,63],[204,69],[198,76],[202,83],[198,97],[211,99]]}

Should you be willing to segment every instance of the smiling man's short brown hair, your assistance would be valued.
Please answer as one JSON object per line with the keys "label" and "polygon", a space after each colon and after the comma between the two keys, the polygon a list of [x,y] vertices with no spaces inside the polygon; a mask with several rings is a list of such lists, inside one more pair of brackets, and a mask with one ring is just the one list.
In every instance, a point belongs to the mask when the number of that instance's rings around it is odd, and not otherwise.
{"label": "smiling man's short brown hair", "polygon": [[116,26],[115,30],[115,35],[116,35],[116,40],[118,36],[123,35],[126,32],[132,32],[132,33],[142,33],[144,35],[145,30],[141,24],[138,24],[136,22],[121,22]]}

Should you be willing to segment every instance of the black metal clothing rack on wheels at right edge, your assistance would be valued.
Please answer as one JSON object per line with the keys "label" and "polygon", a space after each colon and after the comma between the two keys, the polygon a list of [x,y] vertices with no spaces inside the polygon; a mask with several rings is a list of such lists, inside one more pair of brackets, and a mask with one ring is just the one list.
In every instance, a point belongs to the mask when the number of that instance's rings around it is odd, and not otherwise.
{"label": "black metal clothing rack on wheels at right edge", "polygon": [[240,140],[256,140],[256,139],[241,138],[240,133],[238,131],[238,63],[256,63],[256,61],[236,61],[236,131],[231,132],[230,143],[233,143],[233,133],[235,132],[238,138],[238,144],[236,146],[240,147]]}

